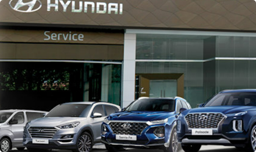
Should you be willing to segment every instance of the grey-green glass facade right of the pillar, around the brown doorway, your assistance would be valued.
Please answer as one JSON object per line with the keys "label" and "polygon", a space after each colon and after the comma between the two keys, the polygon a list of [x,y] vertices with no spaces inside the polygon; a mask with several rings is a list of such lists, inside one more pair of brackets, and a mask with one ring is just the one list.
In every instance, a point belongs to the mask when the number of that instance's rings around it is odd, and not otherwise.
{"label": "grey-green glass facade right of the pillar, around the brown doorway", "polygon": [[256,88],[256,38],[137,34],[136,74],[183,74],[192,107],[224,89]]}

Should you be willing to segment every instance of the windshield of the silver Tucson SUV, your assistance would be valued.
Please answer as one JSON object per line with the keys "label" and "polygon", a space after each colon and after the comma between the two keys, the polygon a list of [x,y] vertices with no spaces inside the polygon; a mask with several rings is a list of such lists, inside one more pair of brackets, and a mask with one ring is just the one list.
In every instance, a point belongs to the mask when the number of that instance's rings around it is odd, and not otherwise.
{"label": "windshield of the silver Tucson SUV", "polygon": [[87,117],[90,105],[65,104],[52,109],[45,117]]}

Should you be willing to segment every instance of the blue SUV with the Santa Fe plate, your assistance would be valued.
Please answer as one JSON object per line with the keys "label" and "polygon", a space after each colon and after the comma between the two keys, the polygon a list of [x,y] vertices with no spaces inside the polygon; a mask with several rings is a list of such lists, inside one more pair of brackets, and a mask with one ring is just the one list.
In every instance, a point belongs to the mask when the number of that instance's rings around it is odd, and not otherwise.
{"label": "blue SUV with the Santa Fe plate", "polygon": [[101,141],[108,151],[123,147],[159,148],[176,152],[179,109],[191,109],[183,98],[139,98],[102,123]]}

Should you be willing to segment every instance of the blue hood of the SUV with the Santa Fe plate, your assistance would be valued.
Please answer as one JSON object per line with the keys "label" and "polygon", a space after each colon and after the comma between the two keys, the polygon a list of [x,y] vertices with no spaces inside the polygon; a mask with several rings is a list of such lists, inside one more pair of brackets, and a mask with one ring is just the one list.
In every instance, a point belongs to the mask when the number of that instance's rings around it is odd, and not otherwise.
{"label": "blue hood of the SUV with the Santa Fe plate", "polygon": [[111,114],[109,120],[138,120],[138,121],[154,121],[163,120],[168,117],[174,116],[174,112],[152,112],[152,111],[123,111]]}

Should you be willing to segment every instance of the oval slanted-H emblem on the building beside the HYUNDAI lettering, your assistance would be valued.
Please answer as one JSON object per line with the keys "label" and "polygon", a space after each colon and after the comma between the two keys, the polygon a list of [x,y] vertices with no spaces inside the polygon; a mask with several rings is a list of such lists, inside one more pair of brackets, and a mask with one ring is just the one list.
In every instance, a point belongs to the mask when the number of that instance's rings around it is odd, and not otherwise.
{"label": "oval slanted-H emblem on the building beside the HYUNDAI lettering", "polygon": [[13,10],[23,13],[35,12],[42,7],[42,3],[39,0],[30,0],[30,2],[23,2],[23,0],[10,0],[9,4]]}

